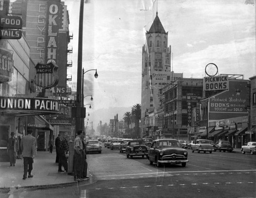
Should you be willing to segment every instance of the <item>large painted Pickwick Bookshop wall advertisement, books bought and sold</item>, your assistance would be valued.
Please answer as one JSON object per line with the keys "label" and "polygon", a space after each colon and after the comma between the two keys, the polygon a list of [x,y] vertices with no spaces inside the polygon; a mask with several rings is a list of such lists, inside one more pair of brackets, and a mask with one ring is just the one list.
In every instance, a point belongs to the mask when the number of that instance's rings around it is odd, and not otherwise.
{"label": "large painted Pickwick Bookshop wall advertisement, books bought and sold", "polygon": [[246,116],[247,81],[229,81],[229,90],[209,98],[209,119]]}

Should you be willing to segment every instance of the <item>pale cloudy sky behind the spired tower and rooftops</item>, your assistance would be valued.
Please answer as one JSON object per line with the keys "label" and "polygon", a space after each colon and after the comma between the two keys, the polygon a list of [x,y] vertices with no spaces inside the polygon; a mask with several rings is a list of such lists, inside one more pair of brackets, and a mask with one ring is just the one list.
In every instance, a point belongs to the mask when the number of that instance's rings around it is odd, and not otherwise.
{"label": "pale cloudy sky behind the spired tower and rooftops", "polygon": [[[65,2],[74,34],[70,43],[73,67],[68,74],[76,82],[80,1]],[[84,95],[94,98],[84,101],[92,103],[90,112],[141,103],[142,46],[157,9],[168,32],[168,46],[172,46],[174,72],[185,78],[203,78],[206,64],[213,62],[219,74],[243,74],[244,79],[256,75],[255,5],[245,2],[159,0],[157,6],[153,0],[87,1],[82,65],[85,71],[97,69],[99,75],[97,79],[94,71],[84,75]]]}

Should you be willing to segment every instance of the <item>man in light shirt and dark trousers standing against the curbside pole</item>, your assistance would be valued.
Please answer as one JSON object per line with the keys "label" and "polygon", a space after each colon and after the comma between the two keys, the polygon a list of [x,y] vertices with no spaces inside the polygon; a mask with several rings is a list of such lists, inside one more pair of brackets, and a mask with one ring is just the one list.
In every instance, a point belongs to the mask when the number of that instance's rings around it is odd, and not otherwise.
{"label": "man in light shirt and dark trousers standing against the curbside pole", "polygon": [[82,177],[82,130],[77,131],[77,136],[74,141],[74,181],[81,182]]}

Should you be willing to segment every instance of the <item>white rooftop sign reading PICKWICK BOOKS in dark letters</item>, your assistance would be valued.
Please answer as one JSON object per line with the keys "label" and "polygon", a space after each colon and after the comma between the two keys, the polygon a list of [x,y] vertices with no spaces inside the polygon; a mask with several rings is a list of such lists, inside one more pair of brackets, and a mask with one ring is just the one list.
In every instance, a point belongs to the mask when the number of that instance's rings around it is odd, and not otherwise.
{"label": "white rooftop sign reading PICKWICK BOOKS in dark letters", "polygon": [[228,75],[204,77],[204,81],[203,81],[204,91],[228,90],[228,89],[229,89]]}

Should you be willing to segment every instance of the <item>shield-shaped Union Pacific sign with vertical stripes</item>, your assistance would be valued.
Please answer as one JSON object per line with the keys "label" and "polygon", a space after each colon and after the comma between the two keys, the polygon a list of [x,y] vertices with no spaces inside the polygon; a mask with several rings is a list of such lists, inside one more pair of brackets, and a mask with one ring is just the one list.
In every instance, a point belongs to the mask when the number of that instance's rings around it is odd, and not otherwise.
{"label": "shield-shaped Union Pacific sign with vertical stripes", "polygon": [[53,63],[41,64],[37,63],[35,65],[36,75],[35,83],[37,86],[41,86],[45,89],[56,86],[59,82],[57,69],[58,66]]}

